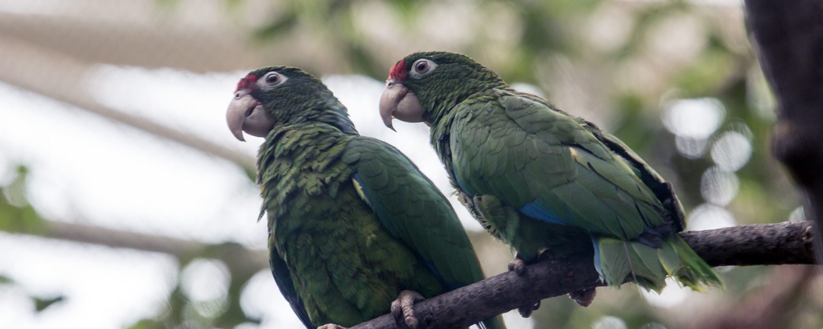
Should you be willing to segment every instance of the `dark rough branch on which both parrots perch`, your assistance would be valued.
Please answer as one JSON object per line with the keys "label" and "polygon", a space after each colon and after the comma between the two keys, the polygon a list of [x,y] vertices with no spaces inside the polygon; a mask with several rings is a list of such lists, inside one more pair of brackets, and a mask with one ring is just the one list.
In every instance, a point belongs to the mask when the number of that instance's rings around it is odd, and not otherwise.
{"label": "dark rough branch on which both parrots perch", "polygon": [[[812,264],[812,229],[808,221],[744,225],[681,233],[711,266]],[[468,327],[481,319],[538,300],[602,286],[591,255],[547,259],[529,265],[523,276],[505,272],[415,304],[428,328]],[[394,329],[383,315],[350,329]]]}

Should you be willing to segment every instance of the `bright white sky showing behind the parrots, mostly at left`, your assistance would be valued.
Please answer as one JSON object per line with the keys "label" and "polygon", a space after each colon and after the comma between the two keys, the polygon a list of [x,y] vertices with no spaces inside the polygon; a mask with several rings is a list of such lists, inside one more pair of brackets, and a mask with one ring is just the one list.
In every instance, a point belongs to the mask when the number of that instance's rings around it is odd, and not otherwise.
{"label": "bright white sky showing behind the parrots, mostly at left", "polygon": [[[262,141],[231,136],[225,109],[245,72],[193,74],[170,69],[98,67],[87,86],[96,100],[197,134],[253,156]],[[364,76],[323,79],[349,108],[360,133],[397,146],[445,194],[451,188],[421,124],[381,123],[383,83]],[[30,202],[49,218],[162,234],[207,243],[236,241],[265,248],[257,223],[258,189],[226,160],[203,155],[65,104],[0,84],[0,183],[15,165],[30,167]],[[481,229],[463,206],[453,205],[467,229]],[[0,234],[0,275],[19,284],[0,285],[0,327],[123,327],[161,312],[178,280],[177,261],[159,253],[117,250],[30,236]],[[226,276],[221,264],[198,262],[184,271],[190,297],[214,297]],[[28,294],[67,299],[34,313]],[[218,294],[219,295],[219,294]],[[244,311],[264,318],[263,327],[300,327],[261,271],[243,295]],[[507,322],[531,327],[509,313]]]}

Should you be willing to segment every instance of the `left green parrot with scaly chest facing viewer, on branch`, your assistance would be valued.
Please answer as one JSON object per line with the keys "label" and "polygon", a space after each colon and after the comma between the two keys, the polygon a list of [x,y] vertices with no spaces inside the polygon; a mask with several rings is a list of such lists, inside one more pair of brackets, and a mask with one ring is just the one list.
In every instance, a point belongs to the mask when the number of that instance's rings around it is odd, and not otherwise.
{"label": "left green parrot with scaly chest facing viewer, on branch", "polygon": [[[274,278],[305,327],[391,312],[414,328],[414,302],[483,279],[443,194],[396,148],[360,136],[319,79],[295,67],[250,72],[226,118],[240,141],[266,138],[260,218]],[[500,317],[481,326],[504,328]]]}

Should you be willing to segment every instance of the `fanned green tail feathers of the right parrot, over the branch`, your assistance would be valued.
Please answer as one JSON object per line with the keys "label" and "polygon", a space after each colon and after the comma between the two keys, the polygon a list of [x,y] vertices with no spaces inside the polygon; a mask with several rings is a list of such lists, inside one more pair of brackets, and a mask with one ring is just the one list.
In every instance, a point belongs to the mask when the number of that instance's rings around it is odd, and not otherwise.
{"label": "fanned green tail feathers of the right parrot, over the branch", "polygon": [[646,290],[658,293],[666,278],[674,277],[681,285],[703,291],[704,285],[723,287],[709,264],[691,250],[677,234],[663,238],[658,248],[637,240],[597,238],[595,243],[602,276],[607,285],[621,285],[634,280]]}

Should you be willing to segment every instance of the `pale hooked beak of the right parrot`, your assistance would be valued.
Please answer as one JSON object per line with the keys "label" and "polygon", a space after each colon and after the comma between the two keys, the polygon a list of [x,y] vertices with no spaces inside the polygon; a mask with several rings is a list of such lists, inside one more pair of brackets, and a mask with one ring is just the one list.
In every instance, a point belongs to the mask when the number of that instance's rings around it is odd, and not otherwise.
{"label": "pale hooked beak of the right parrot", "polygon": [[412,90],[409,90],[402,83],[389,79],[386,81],[386,88],[383,95],[380,95],[380,118],[386,127],[394,130],[392,119],[398,118],[407,123],[423,122],[425,109],[417,100]]}

